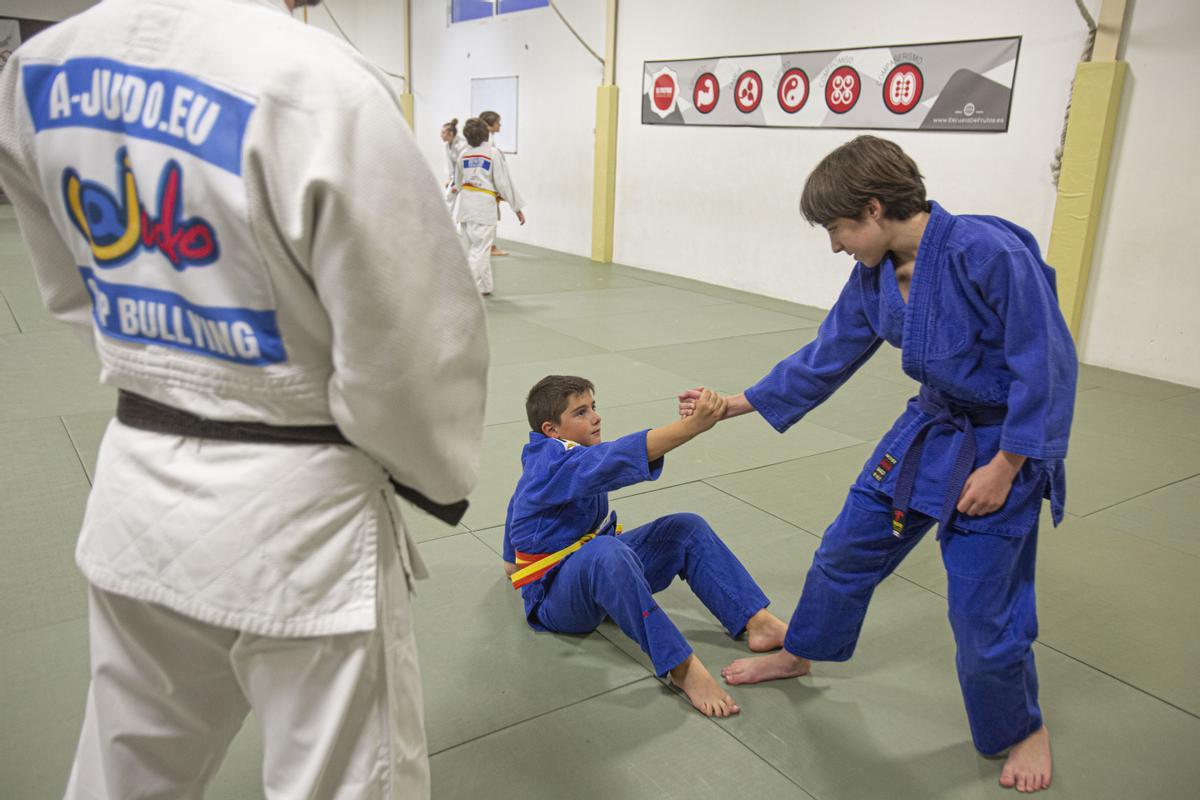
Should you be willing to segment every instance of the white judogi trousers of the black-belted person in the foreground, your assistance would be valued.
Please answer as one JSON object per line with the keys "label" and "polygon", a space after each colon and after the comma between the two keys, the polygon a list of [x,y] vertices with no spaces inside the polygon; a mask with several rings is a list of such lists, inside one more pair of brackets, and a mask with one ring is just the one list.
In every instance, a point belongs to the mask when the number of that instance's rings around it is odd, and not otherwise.
{"label": "white judogi trousers of the black-belted person in the foreground", "polygon": [[257,636],[92,587],[66,799],[202,798],[250,710],[269,799],[428,798],[408,579],[391,531],[379,539],[374,631]]}

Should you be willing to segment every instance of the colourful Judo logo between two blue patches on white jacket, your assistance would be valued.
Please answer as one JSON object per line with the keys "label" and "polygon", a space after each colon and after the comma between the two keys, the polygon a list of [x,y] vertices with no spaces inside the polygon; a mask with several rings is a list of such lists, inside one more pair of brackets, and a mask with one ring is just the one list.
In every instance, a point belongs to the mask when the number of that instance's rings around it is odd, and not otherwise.
{"label": "colourful Judo logo between two blue patches on white jacket", "polygon": [[73,167],[62,172],[62,200],[67,216],[88,240],[96,266],[113,269],[139,249],[158,251],[178,271],[205,266],[220,255],[217,235],[205,219],[182,218],[184,170],[172,160],[158,179],[154,216],[138,197],[138,185],[128,152],[116,152],[116,192],[83,180]]}

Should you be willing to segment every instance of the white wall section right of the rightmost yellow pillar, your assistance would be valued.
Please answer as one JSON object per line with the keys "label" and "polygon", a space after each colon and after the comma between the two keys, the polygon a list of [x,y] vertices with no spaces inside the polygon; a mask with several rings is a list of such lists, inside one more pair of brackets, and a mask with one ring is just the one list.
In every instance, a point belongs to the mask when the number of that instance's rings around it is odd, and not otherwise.
{"label": "white wall section right of the rightmost yellow pillar", "polygon": [[1088,363],[1200,386],[1200,4],[1133,8],[1129,62],[1087,291]]}

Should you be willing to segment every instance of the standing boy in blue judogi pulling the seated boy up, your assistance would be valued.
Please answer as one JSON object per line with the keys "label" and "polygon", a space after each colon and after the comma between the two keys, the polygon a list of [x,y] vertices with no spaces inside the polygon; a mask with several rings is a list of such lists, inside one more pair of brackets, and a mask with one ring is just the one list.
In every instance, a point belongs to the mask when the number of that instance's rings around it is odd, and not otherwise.
{"label": "standing boy in blue judogi pulling the seated boy up", "polygon": [[[1054,270],[1027,230],[926,201],[917,166],[875,137],[827,156],[800,209],[835,253],[858,263],[816,339],[727,398],[725,416],[758,411],[784,432],[883,342],[901,348],[920,393],[826,531],[784,649],[722,675],[754,684],[850,658],[875,587],[938,523],[976,748],[1007,751],[1002,786],[1044,789],[1051,758],[1031,649],[1033,565],[1043,498],[1054,522],[1062,518],[1078,371]],[[697,397],[680,395],[680,414]]]}

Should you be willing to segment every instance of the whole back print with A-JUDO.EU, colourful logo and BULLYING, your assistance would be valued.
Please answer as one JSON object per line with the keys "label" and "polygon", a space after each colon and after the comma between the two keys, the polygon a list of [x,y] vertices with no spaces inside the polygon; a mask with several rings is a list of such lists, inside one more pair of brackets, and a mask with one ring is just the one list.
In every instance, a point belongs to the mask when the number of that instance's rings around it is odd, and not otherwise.
{"label": "whole back print with A-JUDO.EU, colourful logo and BULLYING", "polygon": [[[254,104],[193,76],[112,59],[25,65],[22,80],[84,245],[73,249],[96,329],[245,366],[287,361],[275,309],[241,307],[269,295],[222,253],[218,235],[222,223],[242,224]],[[236,242],[238,231],[224,237]]]}

